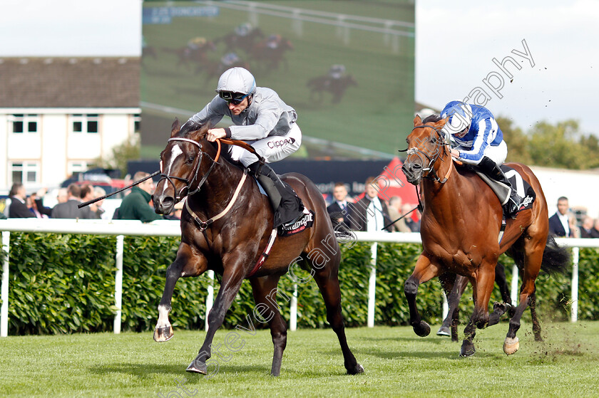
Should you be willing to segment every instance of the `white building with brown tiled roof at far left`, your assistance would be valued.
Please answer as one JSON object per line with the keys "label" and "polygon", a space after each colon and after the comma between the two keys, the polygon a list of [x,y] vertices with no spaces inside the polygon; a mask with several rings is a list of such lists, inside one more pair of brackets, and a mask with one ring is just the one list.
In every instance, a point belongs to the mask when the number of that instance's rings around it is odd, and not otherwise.
{"label": "white building with brown tiled roof at far left", "polygon": [[140,59],[0,58],[0,189],[58,186],[130,139]]}

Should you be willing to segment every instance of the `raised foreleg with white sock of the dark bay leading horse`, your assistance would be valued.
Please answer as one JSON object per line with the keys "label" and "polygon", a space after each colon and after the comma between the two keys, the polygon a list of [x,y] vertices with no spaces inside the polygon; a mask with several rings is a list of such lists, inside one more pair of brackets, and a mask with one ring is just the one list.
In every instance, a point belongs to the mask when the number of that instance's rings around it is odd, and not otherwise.
{"label": "raised foreleg with white sock of the dark bay leading horse", "polygon": [[166,282],[163,296],[158,304],[158,323],[154,329],[154,340],[165,342],[173,337],[173,326],[168,320],[170,313],[170,300],[173,298],[175,284],[182,276],[198,276],[207,268],[207,261],[204,256],[195,255],[186,243],[179,245],[177,258],[166,269]]}

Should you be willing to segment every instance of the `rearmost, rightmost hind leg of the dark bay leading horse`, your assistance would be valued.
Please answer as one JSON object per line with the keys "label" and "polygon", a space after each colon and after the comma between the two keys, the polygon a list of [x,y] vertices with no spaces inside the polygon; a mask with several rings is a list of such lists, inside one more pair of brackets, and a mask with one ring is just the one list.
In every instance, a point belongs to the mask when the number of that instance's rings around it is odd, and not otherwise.
{"label": "rearmost, rightmost hind leg of the dark bay leading horse", "polygon": [[336,253],[324,265],[313,263],[312,269],[315,271],[314,280],[320,289],[324,305],[327,307],[327,321],[335,334],[337,334],[339,345],[341,345],[345,369],[349,375],[357,375],[364,372],[364,367],[357,362],[356,357],[349,350],[347,337],[345,337],[345,325],[341,313],[341,289],[339,288],[338,276],[339,257],[340,254]]}

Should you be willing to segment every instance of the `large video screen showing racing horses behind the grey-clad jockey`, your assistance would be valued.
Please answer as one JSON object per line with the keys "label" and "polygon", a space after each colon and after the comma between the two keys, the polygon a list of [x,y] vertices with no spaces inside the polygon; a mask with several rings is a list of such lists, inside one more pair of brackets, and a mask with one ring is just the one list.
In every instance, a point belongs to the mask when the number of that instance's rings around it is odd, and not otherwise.
{"label": "large video screen showing racing horses behind the grey-clad jockey", "polygon": [[142,157],[158,157],[174,118],[200,111],[232,66],[297,110],[295,156],[389,157],[414,117],[414,2],[145,1]]}

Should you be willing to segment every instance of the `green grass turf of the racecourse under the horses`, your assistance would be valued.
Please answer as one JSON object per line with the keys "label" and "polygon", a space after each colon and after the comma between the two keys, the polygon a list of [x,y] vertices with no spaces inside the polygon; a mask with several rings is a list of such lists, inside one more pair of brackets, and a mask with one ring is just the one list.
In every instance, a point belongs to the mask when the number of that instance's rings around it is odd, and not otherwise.
{"label": "green grass turf of the racecourse under the horses", "polygon": [[[281,376],[270,377],[267,330],[238,331],[236,352],[225,348],[232,330],[217,332],[222,356],[210,378],[185,372],[204,332],[178,331],[170,342],[149,332],[113,335],[22,336],[0,339],[1,397],[596,397],[599,323],[544,323],[544,342],[531,325],[521,348],[506,357],[507,323],[479,330],[476,355],[459,359],[447,337],[414,335],[409,327],[347,329],[364,375],[347,376],[332,330],[290,332]],[[217,369],[217,370],[216,370]],[[183,389],[177,381],[182,381]],[[173,392],[178,392],[174,394]],[[162,394],[162,395],[160,395]],[[169,395],[170,394],[170,395]]]}

